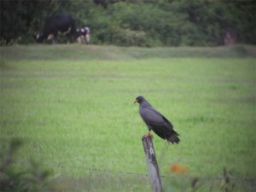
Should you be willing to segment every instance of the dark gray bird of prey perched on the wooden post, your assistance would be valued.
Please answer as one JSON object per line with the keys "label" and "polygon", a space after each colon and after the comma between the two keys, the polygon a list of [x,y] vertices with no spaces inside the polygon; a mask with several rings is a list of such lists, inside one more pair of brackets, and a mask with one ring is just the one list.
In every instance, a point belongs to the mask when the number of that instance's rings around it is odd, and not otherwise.
{"label": "dark gray bird of prey perched on the wooden post", "polygon": [[151,104],[148,103],[143,96],[138,96],[134,103],[140,104],[139,114],[148,127],[148,134],[144,137],[151,137],[151,130],[154,131],[160,138],[166,139],[168,142],[179,142],[178,134],[173,130],[172,123],[161,115],[159,111],[155,110]]}

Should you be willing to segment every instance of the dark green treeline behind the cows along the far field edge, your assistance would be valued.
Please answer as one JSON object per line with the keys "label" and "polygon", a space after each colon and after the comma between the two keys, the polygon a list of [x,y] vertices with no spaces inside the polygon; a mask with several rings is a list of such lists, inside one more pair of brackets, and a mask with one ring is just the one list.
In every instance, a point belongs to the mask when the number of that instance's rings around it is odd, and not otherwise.
{"label": "dark green treeline behind the cows along the far field edge", "polygon": [[1,0],[0,44],[32,43],[52,14],[71,13],[89,26],[91,42],[125,46],[213,46],[224,31],[256,43],[256,1]]}

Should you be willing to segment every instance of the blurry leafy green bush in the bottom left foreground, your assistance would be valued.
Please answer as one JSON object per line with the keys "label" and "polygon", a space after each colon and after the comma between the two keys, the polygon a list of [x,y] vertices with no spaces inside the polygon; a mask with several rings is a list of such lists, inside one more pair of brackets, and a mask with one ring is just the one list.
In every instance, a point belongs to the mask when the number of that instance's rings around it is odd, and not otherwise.
{"label": "blurry leafy green bush in the bottom left foreground", "polygon": [[15,155],[20,149],[22,141],[14,139],[9,144],[9,149],[1,154],[0,164],[0,189],[1,191],[53,191],[52,172],[44,170],[36,161],[30,161],[28,167],[20,171],[15,167]]}

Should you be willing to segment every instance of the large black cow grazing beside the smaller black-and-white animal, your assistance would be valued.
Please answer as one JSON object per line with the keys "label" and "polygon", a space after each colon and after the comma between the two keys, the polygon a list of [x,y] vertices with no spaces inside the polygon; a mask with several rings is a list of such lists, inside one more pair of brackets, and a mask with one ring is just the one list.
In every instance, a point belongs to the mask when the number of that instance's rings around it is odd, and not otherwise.
{"label": "large black cow grazing beside the smaller black-and-white animal", "polygon": [[67,37],[68,42],[72,42],[75,32],[75,20],[71,14],[55,14],[45,20],[41,31],[36,35],[36,40],[56,42],[57,36],[62,35]]}

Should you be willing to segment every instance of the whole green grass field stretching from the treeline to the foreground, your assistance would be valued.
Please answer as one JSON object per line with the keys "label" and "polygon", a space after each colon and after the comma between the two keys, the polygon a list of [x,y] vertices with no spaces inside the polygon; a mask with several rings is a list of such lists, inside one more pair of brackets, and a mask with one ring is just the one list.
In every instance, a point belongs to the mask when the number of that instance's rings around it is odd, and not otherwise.
{"label": "whole green grass field stretching from the treeline to the foreground", "polygon": [[[189,189],[189,178],[221,177],[224,167],[240,179],[237,191],[246,191],[244,178],[256,188],[255,48],[0,50],[0,144],[24,140],[20,167],[31,157],[42,162],[67,191],[150,191],[147,128],[133,104],[143,95],[181,138],[172,145],[154,135],[166,191]],[[170,172],[177,163],[188,172]],[[209,191],[213,181],[201,181],[198,191]]]}

